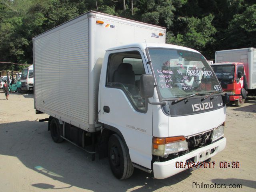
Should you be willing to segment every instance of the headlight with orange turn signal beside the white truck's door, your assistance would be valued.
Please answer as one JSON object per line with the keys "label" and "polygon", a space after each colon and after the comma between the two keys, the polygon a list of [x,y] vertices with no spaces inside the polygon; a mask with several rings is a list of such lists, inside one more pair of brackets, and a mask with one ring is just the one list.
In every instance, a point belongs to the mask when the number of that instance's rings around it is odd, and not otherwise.
{"label": "headlight with orange turn signal beside the white truck's door", "polygon": [[153,138],[152,154],[164,156],[188,149],[188,143],[184,137]]}

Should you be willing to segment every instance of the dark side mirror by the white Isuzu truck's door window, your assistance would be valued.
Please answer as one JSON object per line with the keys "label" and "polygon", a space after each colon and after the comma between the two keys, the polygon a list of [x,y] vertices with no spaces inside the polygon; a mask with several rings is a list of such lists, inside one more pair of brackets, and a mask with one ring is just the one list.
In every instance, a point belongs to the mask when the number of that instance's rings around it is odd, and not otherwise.
{"label": "dark side mirror by the white Isuzu truck's door window", "polygon": [[154,77],[153,75],[143,74],[140,76],[140,93],[144,98],[150,98],[154,95]]}

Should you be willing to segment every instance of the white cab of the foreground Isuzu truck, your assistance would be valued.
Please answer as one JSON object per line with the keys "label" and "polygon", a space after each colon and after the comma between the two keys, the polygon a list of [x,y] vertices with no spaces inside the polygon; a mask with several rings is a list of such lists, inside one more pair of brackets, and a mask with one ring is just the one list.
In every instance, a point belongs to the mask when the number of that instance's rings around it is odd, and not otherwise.
{"label": "white cab of the foreground Isuzu truck", "polygon": [[[149,89],[152,97],[145,96]],[[134,167],[167,178],[187,168],[177,168],[176,162],[203,162],[224,149],[222,94],[211,67],[195,50],[120,46],[108,49],[102,64],[98,121],[120,133]],[[115,174],[120,162],[115,144],[108,156]]]}

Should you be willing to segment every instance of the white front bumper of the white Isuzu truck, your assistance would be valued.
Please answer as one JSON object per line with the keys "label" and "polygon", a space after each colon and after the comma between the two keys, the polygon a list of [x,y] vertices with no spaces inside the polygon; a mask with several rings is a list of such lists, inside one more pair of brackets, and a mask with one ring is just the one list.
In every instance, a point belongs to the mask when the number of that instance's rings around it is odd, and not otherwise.
{"label": "white front bumper of the white Isuzu truck", "polygon": [[[225,148],[225,146],[226,146],[226,138],[222,138],[221,140],[213,144],[210,144],[203,148],[199,148],[197,150],[194,150],[178,158],[175,158],[166,162],[154,162],[153,163],[154,178],[165,179],[179,172],[182,172],[188,168],[187,167],[176,168],[176,162],[183,162],[185,164],[186,160],[189,160],[191,158],[194,158],[195,163],[202,162],[216,155],[218,152],[222,151]],[[216,148],[215,151],[212,154],[210,154],[210,151],[214,148]],[[208,152],[208,155],[206,155],[207,152]],[[200,158],[200,156],[202,157]]]}

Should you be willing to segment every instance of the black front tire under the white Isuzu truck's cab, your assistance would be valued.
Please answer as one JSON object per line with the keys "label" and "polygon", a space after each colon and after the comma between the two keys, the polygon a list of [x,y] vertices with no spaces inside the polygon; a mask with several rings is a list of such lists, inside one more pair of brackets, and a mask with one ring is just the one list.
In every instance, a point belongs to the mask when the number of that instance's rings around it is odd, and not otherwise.
{"label": "black front tire under the white Isuzu truck's cab", "polygon": [[134,167],[130,155],[118,134],[113,134],[108,140],[108,160],[114,176],[124,180],[132,176]]}

